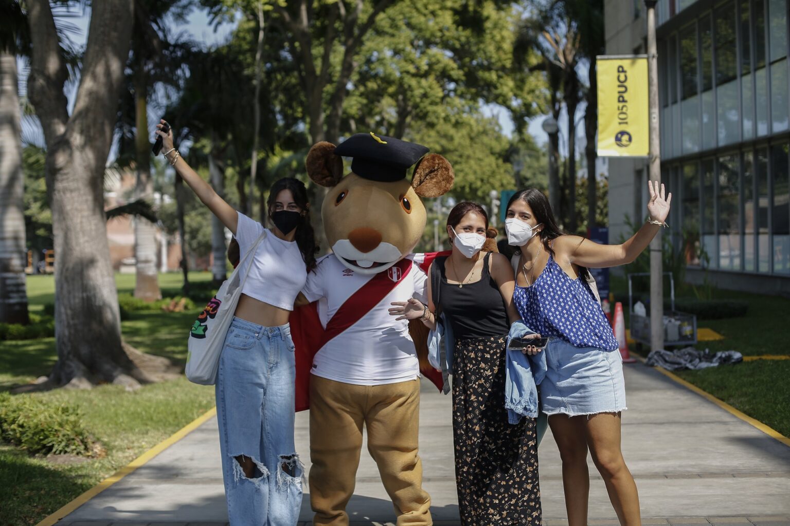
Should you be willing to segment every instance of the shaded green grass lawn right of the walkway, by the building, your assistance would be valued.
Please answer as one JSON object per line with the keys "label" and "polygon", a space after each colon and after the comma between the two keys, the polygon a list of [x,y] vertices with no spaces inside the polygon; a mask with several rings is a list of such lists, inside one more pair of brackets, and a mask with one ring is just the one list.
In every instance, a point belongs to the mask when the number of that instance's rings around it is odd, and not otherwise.
{"label": "shaded green grass lawn right of the walkway, by the building", "polygon": [[[613,278],[612,289],[615,293],[623,290],[627,293],[627,283]],[[733,350],[743,356],[790,354],[790,300],[724,289],[715,289],[713,297],[747,301],[749,310],[742,318],[698,320],[698,326],[709,327],[724,339],[700,341],[695,345],[697,349]],[[627,310],[627,304],[624,309]],[[647,350],[640,354],[646,356]],[[790,436],[790,360],[755,360],[702,371],[675,371],[675,374],[782,435]]]}

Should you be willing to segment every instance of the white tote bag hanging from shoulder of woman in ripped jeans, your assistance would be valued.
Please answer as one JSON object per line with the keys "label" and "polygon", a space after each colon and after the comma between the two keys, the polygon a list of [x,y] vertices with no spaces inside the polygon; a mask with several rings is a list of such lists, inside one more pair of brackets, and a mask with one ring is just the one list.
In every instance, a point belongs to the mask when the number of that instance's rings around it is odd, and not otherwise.
{"label": "white tote bag hanging from shoulder of woman in ripped jeans", "polygon": [[[220,364],[220,354],[225,342],[225,335],[233,320],[236,305],[239,304],[244,282],[250,274],[252,265],[245,265],[247,259],[258,251],[258,245],[266,237],[266,229],[258,237],[253,246],[239,261],[231,277],[226,279],[216,291],[209,304],[195,320],[190,338],[186,345],[186,378],[190,382],[211,386],[216,383],[216,370]],[[244,270],[242,270],[244,269]],[[243,274],[242,274],[243,273]]]}

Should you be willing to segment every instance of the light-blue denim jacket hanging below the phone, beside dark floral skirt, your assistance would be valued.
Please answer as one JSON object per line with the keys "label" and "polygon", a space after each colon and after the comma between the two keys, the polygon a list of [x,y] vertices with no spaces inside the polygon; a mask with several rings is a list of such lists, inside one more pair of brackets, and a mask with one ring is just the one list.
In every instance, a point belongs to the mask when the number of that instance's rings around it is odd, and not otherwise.
{"label": "light-blue denim jacket hanging below the phone, beside dark floral skirt", "polygon": [[505,408],[509,423],[518,423],[521,417],[537,418],[537,386],[546,376],[546,353],[536,355],[521,353],[520,349],[510,349],[510,340],[536,334],[521,320],[513,322],[507,335],[505,364]]}

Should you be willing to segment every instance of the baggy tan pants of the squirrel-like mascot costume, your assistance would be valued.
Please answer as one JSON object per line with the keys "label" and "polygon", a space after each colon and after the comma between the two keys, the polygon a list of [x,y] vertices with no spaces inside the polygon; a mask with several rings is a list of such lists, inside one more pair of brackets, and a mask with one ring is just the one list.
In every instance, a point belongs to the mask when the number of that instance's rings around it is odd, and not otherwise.
{"label": "baggy tan pants of the squirrel-like mascot costume", "polygon": [[310,505],[313,524],[347,526],[362,426],[397,526],[430,526],[431,497],[417,455],[419,380],[357,386],[310,375]]}

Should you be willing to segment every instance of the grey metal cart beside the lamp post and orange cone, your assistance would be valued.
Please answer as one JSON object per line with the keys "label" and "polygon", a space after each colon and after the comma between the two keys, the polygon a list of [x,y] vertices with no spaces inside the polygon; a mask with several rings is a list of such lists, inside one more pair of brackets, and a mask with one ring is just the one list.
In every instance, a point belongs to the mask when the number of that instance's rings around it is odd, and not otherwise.
{"label": "grey metal cart beside the lamp post and orange cone", "polygon": [[[646,315],[634,313],[635,276],[649,276],[649,272],[628,274],[628,313],[630,315],[631,338],[641,344],[650,345],[650,311]],[[697,343],[697,316],[687,312],[675,311],[675,279],[672,272],[664,272],[669,276],[670,310],[664,311],[664,346],[694,345]],[[645,306],[646,307],[646,306]]]}

